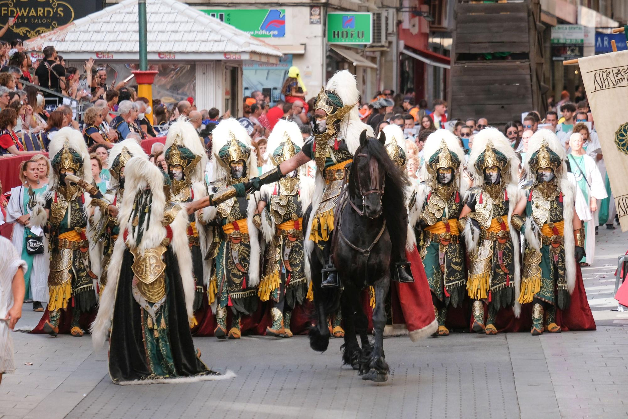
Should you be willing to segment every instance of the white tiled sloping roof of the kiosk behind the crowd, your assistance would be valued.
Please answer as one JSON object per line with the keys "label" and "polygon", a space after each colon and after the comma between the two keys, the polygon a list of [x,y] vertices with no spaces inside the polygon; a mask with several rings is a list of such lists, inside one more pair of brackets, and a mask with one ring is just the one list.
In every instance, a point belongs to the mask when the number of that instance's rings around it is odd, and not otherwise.
{"label": "white tiled sloping roof of the kiosk behind the crowd", "polygon": [[[177,0],[146,0],[149,60],[255,60],[278,62],[275,46]],[[138,0],[123,0],[25,43],[53,45],[66,59],[137,60]]]}

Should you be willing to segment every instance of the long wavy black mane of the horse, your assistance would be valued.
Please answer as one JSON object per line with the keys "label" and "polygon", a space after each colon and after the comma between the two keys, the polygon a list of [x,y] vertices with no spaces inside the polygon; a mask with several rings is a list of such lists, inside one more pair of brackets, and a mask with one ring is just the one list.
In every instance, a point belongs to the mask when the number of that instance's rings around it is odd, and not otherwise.
{"label": "long wavy black mane of the horse", "polygon": [[[379,170],[386,173],[384,179],[384,196],[382,196],[382,215],[386,219],[388,232],[391,237],[404,237],[405,231],[398,231],[403,223],[398,222],[399,217],[406,212],[406,183],[403,171],[394,164],[386,153],[386,148],[375,138],[369,138],[364,146],[360,146],[355,155],[364,153],[377,159]],[[354,176],[349,176],[349,194],[355,196],[357,184]]]}

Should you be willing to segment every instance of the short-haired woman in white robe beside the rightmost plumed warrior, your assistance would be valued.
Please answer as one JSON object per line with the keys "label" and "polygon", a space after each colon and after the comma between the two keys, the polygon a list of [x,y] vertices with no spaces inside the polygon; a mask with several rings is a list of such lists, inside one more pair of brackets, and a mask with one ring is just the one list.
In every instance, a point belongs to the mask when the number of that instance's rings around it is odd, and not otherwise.
{"label": "short-haired woman in white robe beside the rightmost plumed warrior", "polygon": [[[597,201],[606,198],[607,193],[600,170],[598,170],[595,160],[588,156],[582,148],[583,143],[582,135],[571,134],[569,138],[571,153],[568,155],[568,161],[578,188],[582,191],[593,214],[597,210]],[[580,261],[580,265],[590,266],[595,256],[595,222],[593,221],[585,222],[585,252],[587,257]]]}

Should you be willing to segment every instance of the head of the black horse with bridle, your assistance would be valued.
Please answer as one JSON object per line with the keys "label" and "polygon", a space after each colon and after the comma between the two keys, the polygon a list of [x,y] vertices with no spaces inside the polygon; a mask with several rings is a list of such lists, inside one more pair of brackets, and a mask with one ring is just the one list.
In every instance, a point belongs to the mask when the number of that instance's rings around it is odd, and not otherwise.
{"label": "head of the black horse with bridle", "polygon": [[[355,151],[354,161],[349,176],[349,202],[360,215],[374,219],[382,214],[382,196],[386,170],[382,166],[382,158],[388,158],[386,135],[380,138],[367,137],[366,130],[360,134],[360,146]],[[354,203],[357,199],[357,205]],[[361,208],[359,200],[361,199]]]}

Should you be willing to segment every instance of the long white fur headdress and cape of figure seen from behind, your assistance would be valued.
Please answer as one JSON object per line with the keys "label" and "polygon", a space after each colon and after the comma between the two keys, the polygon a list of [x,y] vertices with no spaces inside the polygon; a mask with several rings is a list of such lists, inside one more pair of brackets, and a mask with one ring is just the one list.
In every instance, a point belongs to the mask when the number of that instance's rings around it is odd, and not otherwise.
{"label": "long white fur headdress and cape of figure seen from behind", "polygon": [[[162,226],[163,212],[166,204],[166,197],[163,191],[163,175],[161,171],[150,161],[134,156],[126,165],[125,173],[125,195],[126,199],[122,201],[122,207],[118,216],[120,234],[114,245],[114,251],[111,255],[111,263],[109,264],[109,272],[107,273],[107,286],[100,298],[100,305],[96,320],[92,324],[92,344],[95,349],[99,349],[107,337],[107,330],[114,315],[114,303],[116,302],[117,285],[121,275],[120,269],[124,251],[127,249],[124,241],[124,231],[128,231],[127,241],[130,248],[139,248],[143,253],[147,249],[153,249],[160,246],[161,241],[166,237],[166,229]],[[136,193],[143,191],[146,187],[151,189],[153,202],[151,205],[149,229],[145,230],[146,223],[141,226],[143,236],[140,242],[137,242],[137,234],[131,231],[131,214],[133,212],[134,197]],[[188,247],[187,236],[188,216],[185,209],[181,209],[176,214],[175,220],[171,222],[172,241],[171,249],[175,253],[178,261],[179,273],[183,285],[183,293],[185,295],[185,308],[188,314],[188,320],[192,320],[192,305],[194,302],[195,284],[192,276],[192,256]]]}

